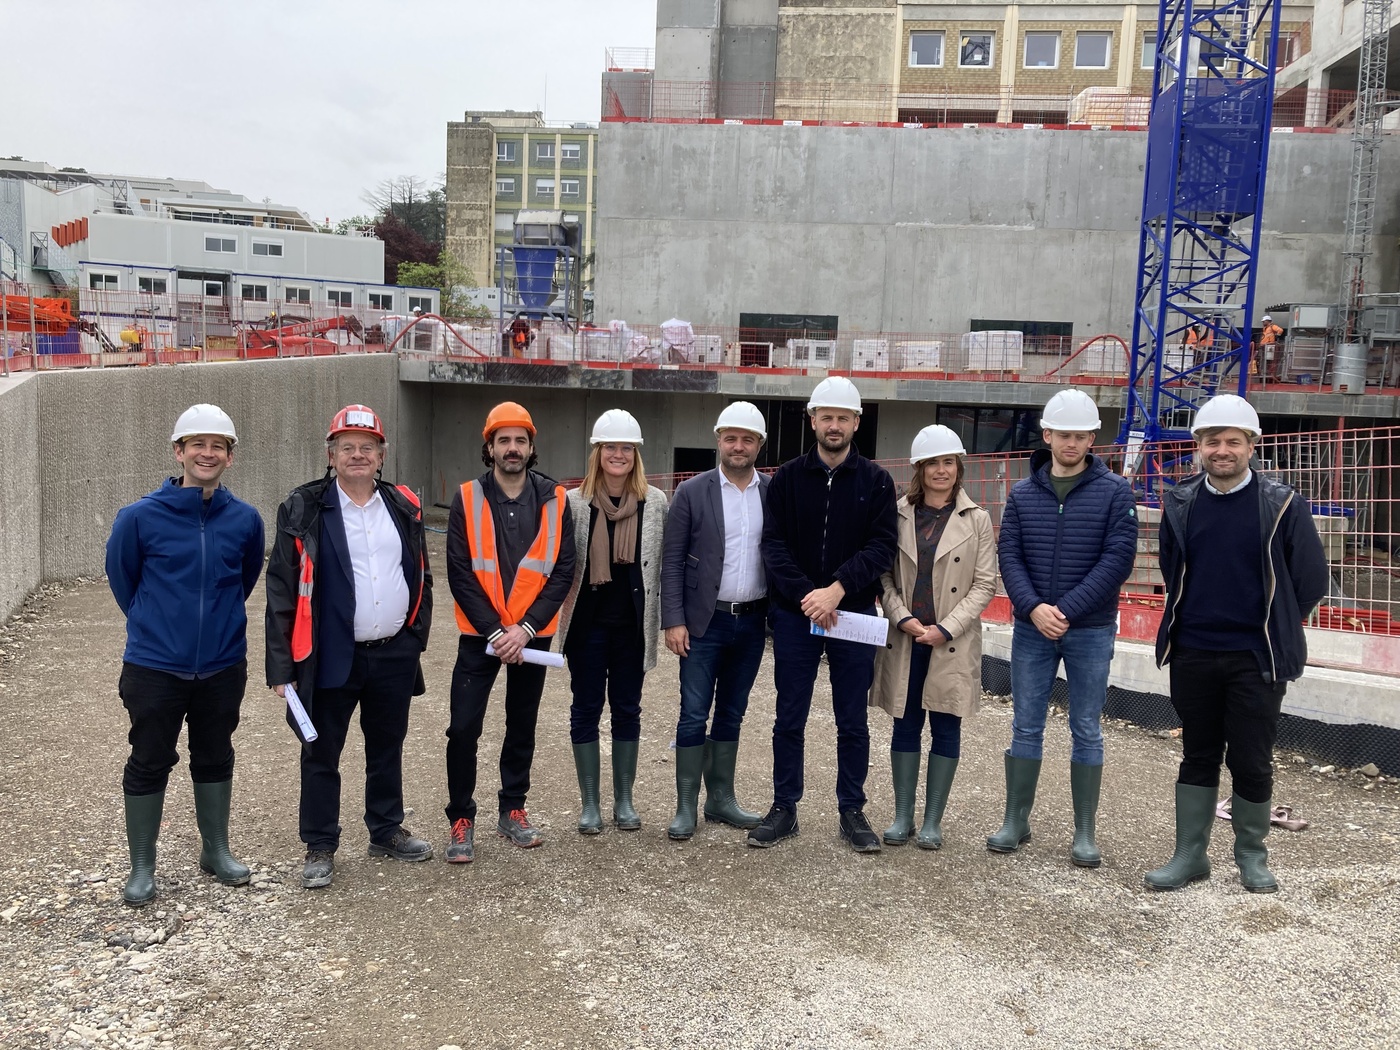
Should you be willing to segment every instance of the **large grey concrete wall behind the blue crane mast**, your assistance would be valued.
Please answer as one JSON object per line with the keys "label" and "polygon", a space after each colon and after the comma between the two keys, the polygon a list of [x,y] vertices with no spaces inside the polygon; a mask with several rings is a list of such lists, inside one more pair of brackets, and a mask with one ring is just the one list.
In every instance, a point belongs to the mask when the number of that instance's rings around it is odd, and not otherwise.
{"label": "large grey concrete wall behind the blue crane mast", "polygon": [[[1135,132],[609,125],[598,316],[812,312],[889,332],[1014,318],[1127,336],[1145,147]],[[1273,137],[1260,304],[1336,298],[1350,148]],[[1400,197],[1385,195],[1386,281],[1397,232]]]}

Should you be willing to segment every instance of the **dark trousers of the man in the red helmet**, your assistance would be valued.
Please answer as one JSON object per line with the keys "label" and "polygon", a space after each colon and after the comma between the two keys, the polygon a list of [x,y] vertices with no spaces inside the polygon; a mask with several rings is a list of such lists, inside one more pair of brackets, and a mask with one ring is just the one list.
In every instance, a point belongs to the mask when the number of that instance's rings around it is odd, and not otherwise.
{"label": "dark trousers of the man in the red helmet", "polygon": [[371,841],[388,841],[403,823],[403,738],[423,647],[409,631],[374,648],[354,647],[350,675],[312,696],[316,739],[301,749],[301,841],[308,850],[340,846],[340,752],[360,708],[364,734],[364,823]]}

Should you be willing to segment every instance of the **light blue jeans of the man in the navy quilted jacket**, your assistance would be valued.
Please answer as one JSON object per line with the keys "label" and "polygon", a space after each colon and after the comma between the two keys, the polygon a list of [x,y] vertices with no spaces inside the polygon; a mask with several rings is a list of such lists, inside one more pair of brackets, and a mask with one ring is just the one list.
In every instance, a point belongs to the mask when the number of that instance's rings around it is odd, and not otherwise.
{"label": "light blue jeans of the man in the navy quilted jacket", "polygon": [[1113,662],[1113,624],[1071,627],[1051,641],[1035,624],[1016,620],[1011,634],[1011,756],[1039,759],[1046,735],[1046,713],[1056,671],[1064,661],[1070,686],[1070,762],[1103,764],[1103,700]]}

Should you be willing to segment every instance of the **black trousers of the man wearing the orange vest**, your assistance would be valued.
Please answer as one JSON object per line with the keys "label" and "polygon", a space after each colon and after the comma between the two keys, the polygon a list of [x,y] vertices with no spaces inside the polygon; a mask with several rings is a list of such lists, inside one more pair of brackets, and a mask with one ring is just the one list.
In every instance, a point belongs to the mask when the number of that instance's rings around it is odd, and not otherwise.
{"label": "black trousers of the man wearing the orange vest", "polygon": [[[532,650],[549,650],[553,638],[535,638]],[[486,706],[501,671],[501,661],[486,655],[486,638],[463,634],[456,643],[452,668],[452,715],[447,727],[447,819],[476,820],[476,745],[482,739]],[[524,809],[529,770],[535,762],[535,722],[545,692],[545,668],[533,664],[505,666],[505,739],[501,743],[500,812]]]}

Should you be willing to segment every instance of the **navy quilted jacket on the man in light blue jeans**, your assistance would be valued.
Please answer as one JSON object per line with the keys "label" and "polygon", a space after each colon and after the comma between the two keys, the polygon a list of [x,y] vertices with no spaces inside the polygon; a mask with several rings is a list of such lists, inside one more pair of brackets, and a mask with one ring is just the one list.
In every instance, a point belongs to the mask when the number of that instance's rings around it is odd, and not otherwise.
{"label": "navy quilted jacket on the man in light blue jeans", "polygon": [[1137,501],[1102,459],[1089,455],[1088,462],[1088,477],[1063,505],[1050,487],[1050,452],[1043,448],[1030,456],[1030,476],[1011,489],[997,557],[1021,620],[1049,603],[1071,627],[1116,622],[1119,588],[1137,556]]}

